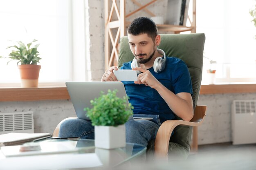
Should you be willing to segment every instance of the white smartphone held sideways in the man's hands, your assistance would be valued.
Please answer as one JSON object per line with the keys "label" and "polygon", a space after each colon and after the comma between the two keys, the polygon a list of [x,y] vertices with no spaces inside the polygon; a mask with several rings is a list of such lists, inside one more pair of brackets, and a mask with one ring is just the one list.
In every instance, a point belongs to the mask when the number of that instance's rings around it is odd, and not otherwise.
{"label": "white smartphone held sideways in the man's hands", "polygon": [[137,81],[138,75],[135,70],[114,70],[118,81]]}

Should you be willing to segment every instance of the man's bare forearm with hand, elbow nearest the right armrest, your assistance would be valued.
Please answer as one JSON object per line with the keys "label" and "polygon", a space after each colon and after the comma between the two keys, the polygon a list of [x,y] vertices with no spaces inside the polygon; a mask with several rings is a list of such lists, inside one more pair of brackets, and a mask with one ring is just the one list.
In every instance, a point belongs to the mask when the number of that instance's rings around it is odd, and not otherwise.
{"label": "man's bare forearm with hand, elbow nearest the right armrest", "polygon": [[142,73],[138,75],[138,81],[135,84],[145,84],[154,88],[159,95],[168,104],[169,108],[185,121],[190,121],[193,118],[193,100],[190,93],[177,93],[176,95],[161,84],[148,70],[143,68],[132,68],[139,70]]}

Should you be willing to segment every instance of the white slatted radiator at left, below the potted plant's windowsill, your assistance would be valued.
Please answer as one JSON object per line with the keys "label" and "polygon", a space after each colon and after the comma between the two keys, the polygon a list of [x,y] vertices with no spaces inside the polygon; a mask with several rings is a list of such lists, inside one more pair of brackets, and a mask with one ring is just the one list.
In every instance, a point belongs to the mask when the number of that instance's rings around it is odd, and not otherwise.
{"label": "white slatted radiator at left, below the potted plant's windowsill", "polygon": [[11,132],[34,133],[33,112],[0,113],[0,135]]}

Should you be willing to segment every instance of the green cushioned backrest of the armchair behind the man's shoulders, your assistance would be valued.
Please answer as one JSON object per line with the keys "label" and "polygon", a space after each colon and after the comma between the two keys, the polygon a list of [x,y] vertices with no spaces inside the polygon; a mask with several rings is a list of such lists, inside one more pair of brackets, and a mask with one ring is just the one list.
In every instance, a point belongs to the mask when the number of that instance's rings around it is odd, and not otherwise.
{"label": "green cushioned backrest of the armchair behind the man's shoulders", "polygon": [[[157,47],[164,50],[166,56],[183,60],[189,68],[193,86],[193,106],[197,105],[202,80],[202,64],[204,51],[204,33],[161,34],[161,42]],[[134,58],[128,44],[128,37],[120,40],[118,66]]]}

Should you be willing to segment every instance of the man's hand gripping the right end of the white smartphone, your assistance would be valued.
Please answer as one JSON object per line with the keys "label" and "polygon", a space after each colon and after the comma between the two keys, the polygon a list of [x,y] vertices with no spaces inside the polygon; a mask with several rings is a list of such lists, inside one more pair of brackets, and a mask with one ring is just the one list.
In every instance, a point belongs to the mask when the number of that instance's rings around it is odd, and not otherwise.
{"label": "man's hand gripping the right end of the white smartphone", "polygon": [[138,75],[138,81],[134,82],[135,84],[145,84],[145,86],[150,86],[151,88],[157,88],[161,84],[148,70],[140,67],[132,68],[132,70],[141,71]]}

